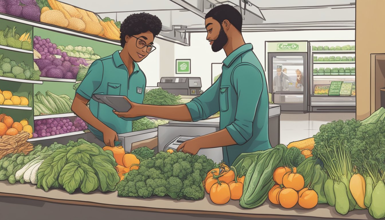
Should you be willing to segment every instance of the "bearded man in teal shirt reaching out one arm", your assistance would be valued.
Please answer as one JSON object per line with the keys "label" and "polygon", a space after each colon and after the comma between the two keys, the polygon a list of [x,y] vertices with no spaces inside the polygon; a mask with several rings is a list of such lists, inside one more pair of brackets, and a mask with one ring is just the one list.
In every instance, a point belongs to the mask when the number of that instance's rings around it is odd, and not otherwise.
{"label": "bearded man in teal shirt reaching out one arm", "polygon": [[219,131],[186,141],[177,150],[196,154],[202,148],[223,147],[223,161],[231,165],[241,153],[271,148],[267,84],[253,46],[243,40],[238,10],[227,4],[216,6],[206,14],[205,26],[211,49],[223,49],[227,56],[221,76],[206,92],[177,106],[143,105],[130,99],[132,108],[115,114],[199,121],[220,111]]}

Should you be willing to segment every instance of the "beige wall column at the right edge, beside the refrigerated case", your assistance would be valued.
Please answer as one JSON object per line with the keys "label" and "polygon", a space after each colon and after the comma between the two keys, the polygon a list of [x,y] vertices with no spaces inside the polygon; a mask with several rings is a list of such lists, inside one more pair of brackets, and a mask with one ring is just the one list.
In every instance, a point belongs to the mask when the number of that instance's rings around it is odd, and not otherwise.
{"label": "beige wall column at the right edge, beside the refrigerated case", "polygon": [[[375,97],[371,97],[371,54],[385,53],[385,1],[356,1],[356,119],[370,116]],[[372,111],[373,112],[373,111]]]}

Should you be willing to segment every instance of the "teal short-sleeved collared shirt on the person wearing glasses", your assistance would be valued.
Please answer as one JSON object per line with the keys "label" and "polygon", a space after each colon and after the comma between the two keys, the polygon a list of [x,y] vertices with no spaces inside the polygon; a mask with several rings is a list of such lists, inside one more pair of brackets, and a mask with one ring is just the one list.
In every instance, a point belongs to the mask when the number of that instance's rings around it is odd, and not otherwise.
{"label": "teal short-sleeved collared shirt on the person wearing glasses", "polygon": [[[95,60],[89,67],[87,75],[76,90],[77,94],[89,99],[91,113],[102,123],[122,134],[132,131],[132,121],[143,118],[119,118],[106,104],[94,101],[93,94],[127,96],[132,102],[143,103],[146,89],[146,76],[134,62],[134,71],[129,76],[119,51],[114,54]],[[103,134],[92,126],[89,130],[103,141]]]}

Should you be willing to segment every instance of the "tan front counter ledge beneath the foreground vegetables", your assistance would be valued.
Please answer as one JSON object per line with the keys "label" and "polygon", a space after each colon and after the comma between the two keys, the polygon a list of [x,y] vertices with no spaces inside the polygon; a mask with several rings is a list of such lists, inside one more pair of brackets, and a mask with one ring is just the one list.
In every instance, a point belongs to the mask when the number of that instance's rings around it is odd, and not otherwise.
{"label": "tan front counter ledge beneath the foreground vegetables", "polygon": [[[315,219],[352,219],[352,220],[372,220],[368,210],[353,210],[346,215],[340,215],[335,211],[335,207],[318,204],[315,208],[306,210],[296,205],[286,209],[270,202],[265,202],[257,208],[245,209],[239,206],[239,201],[231,200],[225,205],[216,205],[211,202],[209,195],[205,193],[202,200],[172,200],[171,198],[152,196],[151,198],[119,197],[117,192],[101,193],[96,191],[92,194],[74,193],[69,194],[64,190],[52,189],[44,191],[32,184],[14,184],[8,181],[0,181],[0,197],[3,201],[10,198],[28,199],[29,204],[37,201],[45,203],[56,203],[52,208],[63,210],[63,204],[81,206],[79,210],[87,207],[96,207],[94,212],[87,212],[89,219],[100,219],[100,214],[109,210],[125,210],[124,215],[141,214],[149,212],[167,213],[171,219],[181,219],[181,215],[199,215],[202,218],[221,219],[228,218],[242,219],[296,219],[296,220],[315,220]],[[17,201],[17,200],[14,200]],[[17,203],[16,203],[17,204]],[[24,204],[24,203],[22,203]],[[37,208],[42,212],[46,205],[31,205],[34,210]],[[37,210],[36,210],[37,211]],[[54,210],[51,210],[54,211]],[[10,213],[14,216],[14,213]],[[64,215],[62,213],[61,215]],[[99,215],[98,215],[99,214]],[[132,214],[132,215],[130,215]],[[95,217],[95,218],[94,218]],[[118,216],[115,216],[118,217]],[[136,217],[136,216],[135,216]],[[135,218],[134,217],[134,218]],[[199,217],[196,217],[199,219]],[[60,215],[57,216],[58,219]],[[142,216],[143,218],[143,216]],[[144,218],[149,219],[149,218]],[[162,218],[166,219],[166,218]],[[190,218],[191,219],[191,218]],[[195,218],[194,218],[195,219]]]}

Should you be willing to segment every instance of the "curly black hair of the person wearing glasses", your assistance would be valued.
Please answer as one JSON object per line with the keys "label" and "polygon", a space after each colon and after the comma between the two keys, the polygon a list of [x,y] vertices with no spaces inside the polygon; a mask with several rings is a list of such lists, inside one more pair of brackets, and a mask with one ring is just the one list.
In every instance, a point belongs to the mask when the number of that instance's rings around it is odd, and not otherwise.
{"label": "curly black hair of the person wearing glasses", "polygon": [[161,32],[162,22],[155,15],[146,12],[129,15],[121,25],[121,46],[126,44],[126,35],[132,36],[150,31],[154,37]]}

